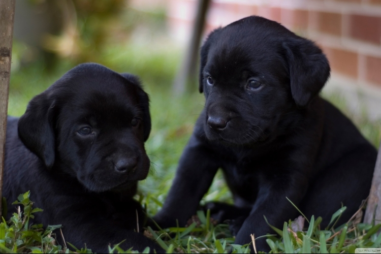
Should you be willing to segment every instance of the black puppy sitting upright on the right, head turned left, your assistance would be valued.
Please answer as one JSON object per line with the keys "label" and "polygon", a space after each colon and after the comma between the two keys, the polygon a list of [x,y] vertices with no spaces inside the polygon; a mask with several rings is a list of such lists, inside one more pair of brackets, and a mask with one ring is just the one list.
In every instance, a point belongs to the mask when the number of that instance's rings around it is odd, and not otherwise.
{"label": "black puppy sitting upright on the right, head turned left", "polygon": [[[235,242],[272,233],[298,211],[322,216],[341,207],[349,219],[369,193],[375,148],[353,123],[318,96],[330,74],[313,42],[279,23],[251,16],[214,30],[201,49],[205,109],[180,158],[163,209],[162,227],[184,225],[218,168],[234,206],[207,205],[232,219]],[[268,250],[262,238],[259,250]]]}

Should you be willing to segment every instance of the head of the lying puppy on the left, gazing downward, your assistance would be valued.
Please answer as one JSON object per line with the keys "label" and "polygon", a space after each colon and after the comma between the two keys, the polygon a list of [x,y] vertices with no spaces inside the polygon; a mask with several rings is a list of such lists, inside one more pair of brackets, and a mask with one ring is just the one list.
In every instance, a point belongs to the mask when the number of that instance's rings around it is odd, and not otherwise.
{"label": "head of the lying puppy on the left, gazing downward", "polygon": [[28,104],[19,137],[48,169],[94,192],[145,179],[151,129],[148,96],[138,79],[95,63],[70,70]]}

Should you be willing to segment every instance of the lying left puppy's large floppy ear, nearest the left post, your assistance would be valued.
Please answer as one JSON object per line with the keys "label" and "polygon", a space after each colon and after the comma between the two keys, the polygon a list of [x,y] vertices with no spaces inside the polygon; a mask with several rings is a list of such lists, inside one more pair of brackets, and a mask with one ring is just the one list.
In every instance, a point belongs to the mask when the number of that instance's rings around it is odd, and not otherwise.
{"label": "lying left puppy's large floppy ear, nearest the left post", "polygon": [[33,98],[19,121],[18,135],[24,145],[50,169],[54,164],[55,135],[53,130],[54,100],[45,91]]}

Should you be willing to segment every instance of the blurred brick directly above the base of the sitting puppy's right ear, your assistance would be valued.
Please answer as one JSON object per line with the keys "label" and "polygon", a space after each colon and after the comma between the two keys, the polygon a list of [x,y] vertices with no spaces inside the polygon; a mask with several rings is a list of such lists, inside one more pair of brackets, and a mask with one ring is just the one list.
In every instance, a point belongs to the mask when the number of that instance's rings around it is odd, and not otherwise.
{"label": "blurred brick directly above the base of the sitting puppy's right ear", "polygon": [[307,29],[308,12],[305,10],[281,9],[281,23],[292,29]]}

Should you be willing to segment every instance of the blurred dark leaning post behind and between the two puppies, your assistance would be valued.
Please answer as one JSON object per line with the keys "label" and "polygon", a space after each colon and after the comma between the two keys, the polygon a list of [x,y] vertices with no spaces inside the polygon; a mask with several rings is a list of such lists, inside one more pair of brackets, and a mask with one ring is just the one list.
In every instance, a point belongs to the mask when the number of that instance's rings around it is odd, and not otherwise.
{"label": "blurred dark leaning post behind and between the two puppies", "polygon": [[183,93],[185,91],[195,91],[197,86],[197,59],[199,55],[200,40],[205,25],[205,17],[208,11],[210,0],[198,0],[197,13],[193,25],[192,37],[186,49],[185,56],[182,60],[180,70],[177,73],[174,82],[174,89],[176,93]]}

